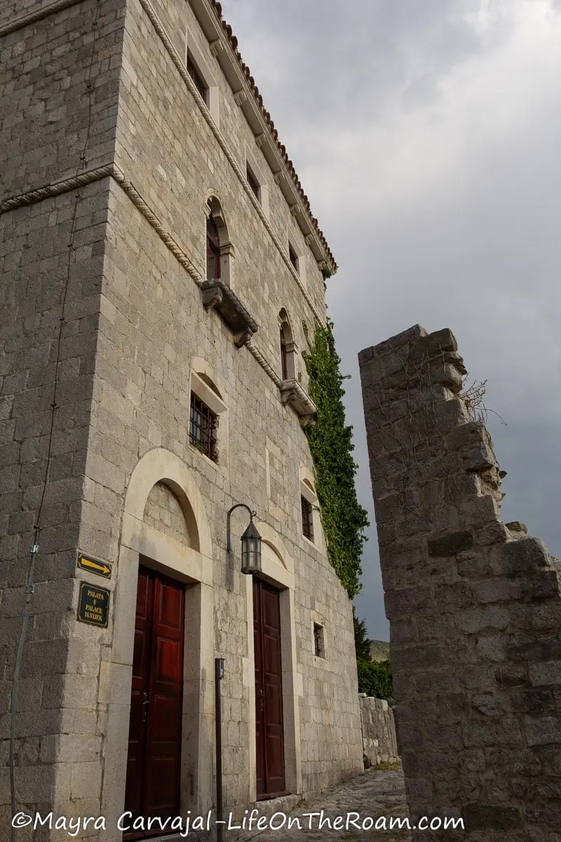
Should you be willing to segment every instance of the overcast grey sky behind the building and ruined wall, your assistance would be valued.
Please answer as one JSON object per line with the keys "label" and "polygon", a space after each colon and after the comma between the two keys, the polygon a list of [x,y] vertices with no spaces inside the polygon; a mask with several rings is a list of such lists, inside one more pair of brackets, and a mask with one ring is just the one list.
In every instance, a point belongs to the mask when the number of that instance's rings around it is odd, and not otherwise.
{"label": "overcast grey sky behind the building and ruined wall", "polygon": [[339,271],[329,313],[370,513],[357,353],[452,328],[488,380],[503,519],[561,555],[561,0],[223,0]]}

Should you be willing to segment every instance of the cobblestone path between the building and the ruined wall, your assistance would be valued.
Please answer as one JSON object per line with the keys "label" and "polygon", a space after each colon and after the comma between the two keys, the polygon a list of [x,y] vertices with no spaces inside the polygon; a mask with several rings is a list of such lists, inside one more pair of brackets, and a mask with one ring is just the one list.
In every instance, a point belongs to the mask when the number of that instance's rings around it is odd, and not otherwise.
{"label": "cobblestone path between the building and the ruined wall", "polygon": [[[331,830],[327,823],[320,830],[318,828],[319,818],[315,816],[310,820],[304,817],[304,813],[320,813],[323,810],[322,818],[331,819]],[[359,813],[357,823],[360,825],[367,816],[373,817],[373,829],[359,829],[350,825],[347,828],[336,830],[333,828],[333,819],[342,816],[347,821],[347,813]],[[409,842],[411,834],[409,830],[389,830],[389,818],[405,818],[408,815],[407,803],[405,802],[405,784],[403,772],[396,770],[369,770],[364,775],[347,781],[331,792],[317,798],[314,802],[305,803],[297,807],[290,818],[299,817],[301,829],[294,826],[288,830],[285,825],[279,830],[263,830],[252,836],[256,842],[316,842],[320,839],[360,839],[361,842]],[[375,829],[376,820],[382,816],[386,817],[386,828]],[[351,817],[356,818],[356,817]],[[310,829],[310,821],[312,827]],[[367,823],[368,824],[368,823]]]}

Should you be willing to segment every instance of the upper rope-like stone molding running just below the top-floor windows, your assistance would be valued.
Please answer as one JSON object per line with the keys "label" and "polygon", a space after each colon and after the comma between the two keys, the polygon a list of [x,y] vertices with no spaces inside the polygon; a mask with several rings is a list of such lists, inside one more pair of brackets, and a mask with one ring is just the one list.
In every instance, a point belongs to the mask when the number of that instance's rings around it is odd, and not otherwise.
{"label": "upper rope-like stone molding running just below the top-floor windows", "polygon": [[212,117],[210,115],[209,109],[207,108],[206,104],[204,103],[204,99],[201,97],[200,93],[198,93],[197,88],[195,88],[195,85],[193,83],[193,79],[189,76],[189,74],[187,72],[187,67],[185,67],[183,61],[181,60],[181,57],[179,56],[179,54],[177,53],[177,50],[173,46],[172,40],[167,35],[166,29],[164,28],[163,24],[161,23],[161,20],[158,18],[157,14],[156,14],[156,11],[154,10],[152,4],[150,3],[150,0],[140,0],[140,6],[146,12],[146,15],[147,15],[148,19],[150,19],[150,22],[151,22],[152,26],[156,30],[156,34],[160,37],[161,43],[166,47],[167,53],[170,56],[170,58],[172,59],[172,62],[177,69],[177,72],[182,77],[183,82],[187,85],[188,91],[193,94],[193,98],[195,99],[195,102],[198,104],[198,108],[199,108],[201,114],[203,115],[204,120],[206,120],[207,124],[209,125],[210,131],[212,131],[214,137],[216,138],[216,140],[218,141],[218,143],[220,145],[220,148],[222,149],[222,152],[224,152],[225,157],[227,158],[228,162],[230,163],[231,168],[236,173],[236,175],[237,175],[237,177],[240,181],[241,186],[246,191],[246,195],[249,197],[249,200],[251,201],[255,210],[257,210],[258,216],[260,217],[263,225],[267,228],[267,232],[269,233],[270,237],[273,239],[274,244],[278,248],[278,252],[280,253],[281,257],[283,258],[284,263],[287,265],[287,268],[288,268],[290,274],[292,275],[292,277],[294,278],[296,284],[298,285],[300,292],[304,296],[304,300],[306,301],[306,303],[310,307],[310,310],[314,313],[314,316],[318,320],[318,322],[320,322],[320,324],[322,324],[325,327],[325,317],[321,316],[319,310],[315,306],[314,301],[312,301],[312,299],[310,298],[308,290],[305,289],[302,281],[300,280],[299,274],[294,269],[294,266],[290,263],[290,258],[288,257],[288,253],[286,253],[286,251],[284,250],[283,244],[280,241],[277,232],[275,232],[273,226],[268,221],[267,216],[265,216],[265,214],[263,213],[262,206],[257,201],[256,196],[253,195],[251,187],[249,186],[249,184],[247,184],[246,176],[244,175],[244,173],[241,170],[240,165],[236,161],[236,157],[230,151],[230,147],[226,143],[224,136],[222,136],[222,134],[220,132],[220,129],[214,123],[214,120],[212,119]]}

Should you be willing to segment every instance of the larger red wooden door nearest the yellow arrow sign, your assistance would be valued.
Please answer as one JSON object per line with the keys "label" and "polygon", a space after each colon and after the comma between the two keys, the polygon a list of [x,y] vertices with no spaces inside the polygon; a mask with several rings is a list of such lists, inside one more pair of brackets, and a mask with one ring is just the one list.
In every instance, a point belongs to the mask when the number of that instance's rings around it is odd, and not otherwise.
{"label": "larger red wooden door nearest the yellow arrow sign", "polygon": [[179,814],[184,609],[181,584],[139,568],[124,801],[130,825],[137,816]]}

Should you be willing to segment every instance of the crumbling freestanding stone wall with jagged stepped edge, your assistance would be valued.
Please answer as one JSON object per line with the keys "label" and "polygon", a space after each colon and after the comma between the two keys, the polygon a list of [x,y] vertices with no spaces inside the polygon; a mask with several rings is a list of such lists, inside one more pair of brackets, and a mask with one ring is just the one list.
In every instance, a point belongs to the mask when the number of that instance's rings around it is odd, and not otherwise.
{"label": "crumbling freestanding stone wall with jagged stepped edge", "polygon": [[461,816],[461,839],[559,842],[561,567],[500,520],[457,347],[416,325],[359,354],[410,813]]}

